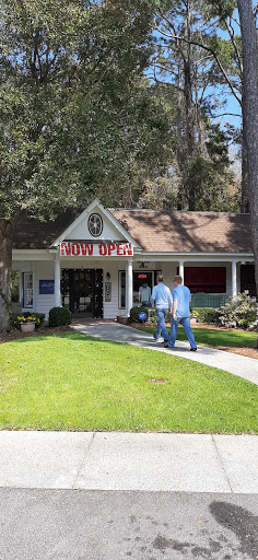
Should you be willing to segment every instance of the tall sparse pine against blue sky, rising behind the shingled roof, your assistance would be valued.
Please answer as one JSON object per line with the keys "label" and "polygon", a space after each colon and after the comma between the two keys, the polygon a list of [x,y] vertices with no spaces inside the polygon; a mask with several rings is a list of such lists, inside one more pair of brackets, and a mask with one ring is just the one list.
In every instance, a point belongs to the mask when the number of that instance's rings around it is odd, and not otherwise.
{"label": "tall sparse pine against blue sky, rising behind the shingled roof", "polygon": [[[224,186],[222,206],[226,199],[230,161],[227,159],[225,162],[224,159],[224,168],[221,165],[216,167],[208,150],[209,137],[212,137],[214,130],[208,118],[214,109],[210,90],[218,83],[222,86],[218,69],[220,61],[215,54],[218,45],[212,49],[210,44],[211,40],[219,42],[215,27],[215,18],[209,13],[206,0],[163,0],[156,10],[153,78],[177,92],[177,118],[174,126],[177,129],[177,166],[181,183],[178,209],[198,209],[201,195],[197,188],[200,179],[198,171],[201,173],[201,167],[207,171],[210,166],[208,208],[218,201],[220,182]],[[224,148],[227,150],[226,142]],[[198,162],[201,164],[200,170]]]}

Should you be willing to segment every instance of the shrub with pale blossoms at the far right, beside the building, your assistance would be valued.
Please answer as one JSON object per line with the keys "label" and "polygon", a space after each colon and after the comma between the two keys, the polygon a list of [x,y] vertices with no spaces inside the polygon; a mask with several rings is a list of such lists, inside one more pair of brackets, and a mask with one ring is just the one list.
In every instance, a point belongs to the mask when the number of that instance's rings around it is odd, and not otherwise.
{"label": "shrub with pale blossoms at the far right, beside the building", "polygon": [[230,303],[218,310],[220,323],[227,328],[258,330],[258,303],[248,291],[231,298]]}

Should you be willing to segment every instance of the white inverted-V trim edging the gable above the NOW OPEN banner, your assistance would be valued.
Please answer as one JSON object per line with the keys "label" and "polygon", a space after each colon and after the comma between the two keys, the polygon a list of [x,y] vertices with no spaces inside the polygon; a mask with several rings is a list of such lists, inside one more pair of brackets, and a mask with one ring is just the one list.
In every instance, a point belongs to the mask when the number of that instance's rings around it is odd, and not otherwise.
{"label": "white inverted-V trim edging the gable above the NOW OPEN banner", "polygon": [[82,220],[84,220],[84,218],[86,218],[86,215],[89,215],[92,212],[92,210],[95,208],[98,208],[104,213],[104,215],[107,218],[107,220],[109,220],[109,222],[112,222],[112,224],[117,229],[117,231],[124,237],[126,237],[126,240],[128,242],[130,242],[133,245],[133,247],[139,248],[139,244],[136,242],[136,240],[133,240],[133,237],[131,237],[131,235],[125,230],[125,228],[122,228],[122,225],[115,218],[115,215],[113,215],[113,213],[109,212],[109,210],[107,210],[107,208],[104,208],[104,206],[102,206],[98,198],[95,198],[91,202],[91,205],[87,208],[85,208],[85,210],[83,210],[83,212],[69,225],[69,228],[67,228],[67,230],[64,230],[61,233],[61,235],[59,235],[59,237],[57,237],[57,240],[55,240],[54,243],[51,243],[50,248],[56,247],[62,241],[64,241],[70,235],[70,233],[82,222]]}

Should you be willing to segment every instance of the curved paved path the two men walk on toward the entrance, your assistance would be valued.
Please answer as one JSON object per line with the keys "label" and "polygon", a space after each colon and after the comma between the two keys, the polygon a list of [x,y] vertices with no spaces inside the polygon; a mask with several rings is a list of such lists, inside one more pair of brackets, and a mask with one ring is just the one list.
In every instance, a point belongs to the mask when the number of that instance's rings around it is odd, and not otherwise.
{"label": "curved paved path the two men walk on toward the entrance", "polygon": [[[218,368],[225,372],[233,373],[238,377],[250,381],[258,385],[258,360],[246,358],[239,354],[223,352],[204,346],[199,346],[197,352],[189,351],[189,343],[176,341],[174,350],[163,348],[161,342],[155,342],[153,336],[143,330],[138,330],[132,327],[116,323],[92,323],[87,325],[73,325],[72,327],[80,332],[95,338],[104,338],[116,342],[128,343],[132,346],[140,346],[149,348],[150,350],[157,350],[171,355],[187,358],[194,362],[203,363]],[[162,340],[162,338],[160,339]]]}

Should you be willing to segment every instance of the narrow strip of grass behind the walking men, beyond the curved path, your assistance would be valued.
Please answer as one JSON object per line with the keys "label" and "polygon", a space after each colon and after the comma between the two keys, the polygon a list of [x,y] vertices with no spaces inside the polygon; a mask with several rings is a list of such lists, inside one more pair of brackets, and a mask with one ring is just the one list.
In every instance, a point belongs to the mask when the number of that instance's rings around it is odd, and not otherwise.
{"label": "narrow strip of grass behind the walking men, beyond the curved path", "polygon": [[[155,332],[156,327],[140,327],[146,332]],[[169,328],[167,329],[169,332]],[[197,345],[207,346],[230,346],[230,347],[256,347],[257,332],[239,331],[239,330],[219,330],[194,327],[195,339]],[[178,340],[187,340],[187,336],[183,327],[178,328]]]}

